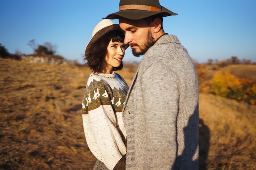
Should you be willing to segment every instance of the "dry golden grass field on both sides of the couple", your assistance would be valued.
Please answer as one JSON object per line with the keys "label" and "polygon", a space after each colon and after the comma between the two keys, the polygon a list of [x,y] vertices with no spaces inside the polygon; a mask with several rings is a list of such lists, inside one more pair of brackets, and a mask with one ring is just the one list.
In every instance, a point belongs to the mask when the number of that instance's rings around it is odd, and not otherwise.
{"label": "dry golden grass field on both sides of the couple", "polygon": [[[119,74],[130,84],[135,70]],[[89,74],[86,67],[0,58],[0,169],[92,169],[81,120]],[[199,98],[200,169],[256,169],[255,106],[204,92]]]}

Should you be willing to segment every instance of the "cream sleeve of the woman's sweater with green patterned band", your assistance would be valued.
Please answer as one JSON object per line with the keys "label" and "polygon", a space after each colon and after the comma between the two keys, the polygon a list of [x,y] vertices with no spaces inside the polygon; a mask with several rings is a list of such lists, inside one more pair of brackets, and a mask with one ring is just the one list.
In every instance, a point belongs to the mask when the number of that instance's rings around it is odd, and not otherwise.
{"label": "cream sleeve of the woman's sweater with green patterned band", "polygon": [[109,169],[126,153],[117,129],[117,113],[112,107],[112,92],[103,81],[92,81],[86,88],[83,104],[83,128],[93,155]]}

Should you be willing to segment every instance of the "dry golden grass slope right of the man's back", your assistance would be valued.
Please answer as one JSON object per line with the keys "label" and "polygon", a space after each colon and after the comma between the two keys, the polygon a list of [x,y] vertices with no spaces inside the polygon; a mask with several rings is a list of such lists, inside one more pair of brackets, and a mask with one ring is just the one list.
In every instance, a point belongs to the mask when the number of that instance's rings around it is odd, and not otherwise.
{"label": "dry golden grass slope right of the man's back", "polygon": [[203,93],[199,100],[201,168],[255,169],[255,106]]}

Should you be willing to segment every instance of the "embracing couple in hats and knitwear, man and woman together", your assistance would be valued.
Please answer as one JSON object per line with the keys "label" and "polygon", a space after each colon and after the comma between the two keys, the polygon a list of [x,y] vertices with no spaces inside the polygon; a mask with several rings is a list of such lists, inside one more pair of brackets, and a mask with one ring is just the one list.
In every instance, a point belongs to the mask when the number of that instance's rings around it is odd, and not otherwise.
{"label": "embracing couple in hats and knitwear, man and woman together", "polygon": [[[92,32],[82,118],[94,170],[198,169],[198,79],[186,48],[164,32],[170,15],[158,0],[120,0]],[[130,87],[114,72],[128,46],[144,55]]]}

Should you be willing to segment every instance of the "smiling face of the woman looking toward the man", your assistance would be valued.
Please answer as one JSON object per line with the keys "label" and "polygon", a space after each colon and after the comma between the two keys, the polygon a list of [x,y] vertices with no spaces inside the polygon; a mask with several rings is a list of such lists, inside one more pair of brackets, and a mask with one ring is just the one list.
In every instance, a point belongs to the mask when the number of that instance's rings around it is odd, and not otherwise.
{"label": "smiling face of the woman looking toward the man", "polygon": [[110,40],[107,47],[107,54],[105,57],[106,74],[110,74],[114,67],[119,67],[124,58],[125,45],[121,42],[112,42]]}

